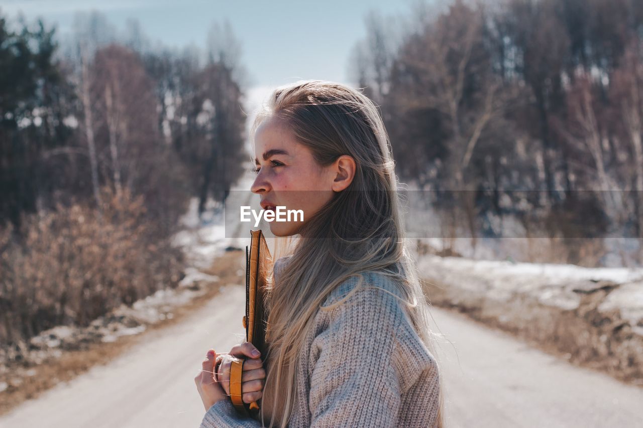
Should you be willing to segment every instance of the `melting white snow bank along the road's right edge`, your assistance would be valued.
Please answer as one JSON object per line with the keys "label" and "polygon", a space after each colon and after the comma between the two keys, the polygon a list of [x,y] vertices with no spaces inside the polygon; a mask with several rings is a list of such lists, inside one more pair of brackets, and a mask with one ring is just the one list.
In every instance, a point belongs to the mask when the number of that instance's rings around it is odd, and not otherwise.
{"label": "melting white snow bank along the road's right edge", "polygon": [[600,281],[608,281],[616,287],[601,301],[599,311],[619,310],[631,325],[643,323],[643,268],[588,268],[433,254],[419,256],[417,264],[422,278],[457,287],[470,299],[480,296],[512,305],[520,296],[529,296],[543,305],[563,310],[579,307],[581,293],[575,290],[591,292],[604,285]]}

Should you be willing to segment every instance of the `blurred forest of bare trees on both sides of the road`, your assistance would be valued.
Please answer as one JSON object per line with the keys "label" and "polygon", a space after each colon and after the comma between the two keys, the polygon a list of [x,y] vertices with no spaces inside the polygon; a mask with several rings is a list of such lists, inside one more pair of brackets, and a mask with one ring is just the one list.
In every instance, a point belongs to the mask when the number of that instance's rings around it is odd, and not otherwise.
{"label": "blurred forest of bare trees on both sides of the road", "polygon": [[[457,236],[523,237],[516,260],[643,263],[643,0],[365,20],[347,66],[381,107],[397,174],[433,195],[442,254]],[[0,11],[1,342],[177,286],[179,217],[194,197],[199,212],[223,201],[248,159],[238,50],[227,23],[199,51],[100,13],[59,38]]]}

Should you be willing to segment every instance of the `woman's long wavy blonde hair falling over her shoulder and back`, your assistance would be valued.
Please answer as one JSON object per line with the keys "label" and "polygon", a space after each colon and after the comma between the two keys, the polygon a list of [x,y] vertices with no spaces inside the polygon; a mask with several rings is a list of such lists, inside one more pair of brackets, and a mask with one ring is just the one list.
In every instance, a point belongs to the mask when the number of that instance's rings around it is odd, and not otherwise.
{"label": "woman's long wavy blonde hair falling over her shoulder and back", "polygon": [[[277,87],[251,129],[276,117],[309,148],[321,166],[352,156],[356,172],[304,224],[289,247],[278,281],[267,296],[266,380],[261,420],[287,426],[294,406],[296,362],[301,344],[332,289],[352,276],[380,272],[394,279],[417,334],[435,355],[426,296],[404,239],[397,179],[388,134],[377,106],[364,94],[336,82],[303,80]],[[283,254],[282,254],[283,255]],[[285,259],[284,259],[285,260]],[[334,305],[333,305],[334,307]],[[442,383],[440,376],[440,383]],[[436,427],[444,426],[440,386]]]}

